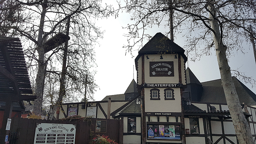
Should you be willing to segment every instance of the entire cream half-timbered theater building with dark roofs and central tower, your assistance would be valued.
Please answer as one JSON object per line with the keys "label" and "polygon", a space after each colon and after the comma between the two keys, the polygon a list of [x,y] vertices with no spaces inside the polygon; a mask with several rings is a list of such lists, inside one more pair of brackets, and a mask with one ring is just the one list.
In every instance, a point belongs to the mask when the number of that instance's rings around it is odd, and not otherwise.
{"label": "entire cream half-timbered theater building with dark roofs and central tower", "polygon": [[[221,80],[200,82],[185,63],[184,50],[157,33],[135,59],[137,79],[124,94],[102,101],[62,104],[72,114],[123,119],[119,143],[238,144]],[[256,139],[256,95],[233,77],[244,115]],[[95,132],[95,134],[98,134]],[[107,133],[106,133],[107,135]]]}

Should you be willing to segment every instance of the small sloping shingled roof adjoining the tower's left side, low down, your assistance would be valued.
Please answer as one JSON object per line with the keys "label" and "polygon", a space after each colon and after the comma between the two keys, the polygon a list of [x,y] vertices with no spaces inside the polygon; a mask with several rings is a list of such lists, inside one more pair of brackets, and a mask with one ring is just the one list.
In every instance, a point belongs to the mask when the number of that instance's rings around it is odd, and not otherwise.
{"label": "small sloping shingled roof adjoining the tower's left side, low down", "polygon": [[140,104],[136,104],[136,100],[130,102],[126,107],[122,108],[120,111],[116,112],[116,114],[141,114],[141,107]]}

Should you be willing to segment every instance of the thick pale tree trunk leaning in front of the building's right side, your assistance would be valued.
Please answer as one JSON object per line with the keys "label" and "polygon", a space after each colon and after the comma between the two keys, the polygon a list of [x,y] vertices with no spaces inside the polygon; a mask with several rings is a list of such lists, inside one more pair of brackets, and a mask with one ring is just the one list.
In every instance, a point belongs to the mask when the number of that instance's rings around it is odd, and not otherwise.
{"label": "thick pale tree trunk leaning in front of the building's right side", "polygon": [[[213,14],[216,12],[214,7],[210,7],[210,10]],[[236,88],[231,76],[230,67],[228,65],[226,56],[227,46],[225,46],[220,40],[220,25],[216,20],[216,17],[214,19],[210,13],[209,18],[211,19],[211,28],[215,31],[215,33],[213,33],[213,40],[220,69],[221,84],[224,89],[238,142],[239,144],[252,144],[254,143],[252,133],[242,111],[241,104],[236,93]]]}

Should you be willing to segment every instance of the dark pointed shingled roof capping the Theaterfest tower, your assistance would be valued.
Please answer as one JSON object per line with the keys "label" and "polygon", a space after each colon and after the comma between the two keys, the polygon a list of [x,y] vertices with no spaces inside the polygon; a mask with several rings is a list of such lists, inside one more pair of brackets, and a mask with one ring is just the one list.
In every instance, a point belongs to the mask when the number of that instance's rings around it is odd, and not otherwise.
{"label": "dark pointed shingled roof capping the Theaterfest tower", "polygon": [[145,44],[139,51],[139,55],[142,54],[160,54],[160,53],[180,53],[185,62],[188,60],[184,54],[185,50],[178,44],[175,44],[168,37],[162,33],[156,33],[147,44]]}

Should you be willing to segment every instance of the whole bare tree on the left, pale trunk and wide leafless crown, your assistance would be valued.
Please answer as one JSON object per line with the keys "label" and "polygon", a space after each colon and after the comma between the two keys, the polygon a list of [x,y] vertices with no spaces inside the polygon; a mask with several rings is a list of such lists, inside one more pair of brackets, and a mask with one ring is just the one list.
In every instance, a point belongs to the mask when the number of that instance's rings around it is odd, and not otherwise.
{"label": "whole bare tree on the left, pale trunk and wide leafless crown", "polygon": [[[60,33],[65,33],[67,19],[68,17],[71,18],[73,25],[70,27],[73,31],[70,32],[69,52],[72,55],[69,56],[69,60],[73,60],[70,64],[76,65],[68,64],[66,75],[71,77],[67,80],[67,83],[78,84],[77,80],[83,81],[82,76],[84,76],[84,73],[89,73],[90,67],[88,66],[91,66],[91,62],[94,62],[93,51],[91,51],[93,44],[97,38],[102,36],[102,32],[95,26],[95,20],[100,17],[109,16],[111,8],[107,5],[102,7],[100,0],[42,0],[29,4],[17,0],[17,5],[9,8],[12,9],[13,7],[22,7],[23,13],[29,15],[29,19],[23,20],[18,25],[10,26],[9,31],[17,31],[28,47],[24,51],[29,59],[28,67],[32,70],[31,75],[33,73],[36,75],[35,94],[37,99],[34,101],[33,111],[36,115],[40,115],[46,71],[50,72],[47,70],[48,63],[54,61],[54,59],[61,61],[60,57],[63,54],[61,46],[53,45],[51,47],[51,45],[47,45],[47,40],[58,36]],[[61,41],[62,38],[59,38],[59,40]],[[80,63],[87,67],[79,67],[81,66]],[[58,72],[55,73],[57,74]],[[94,83],[92,85],[95,86]],[[83,86],[79,88],[81,89]]]}

